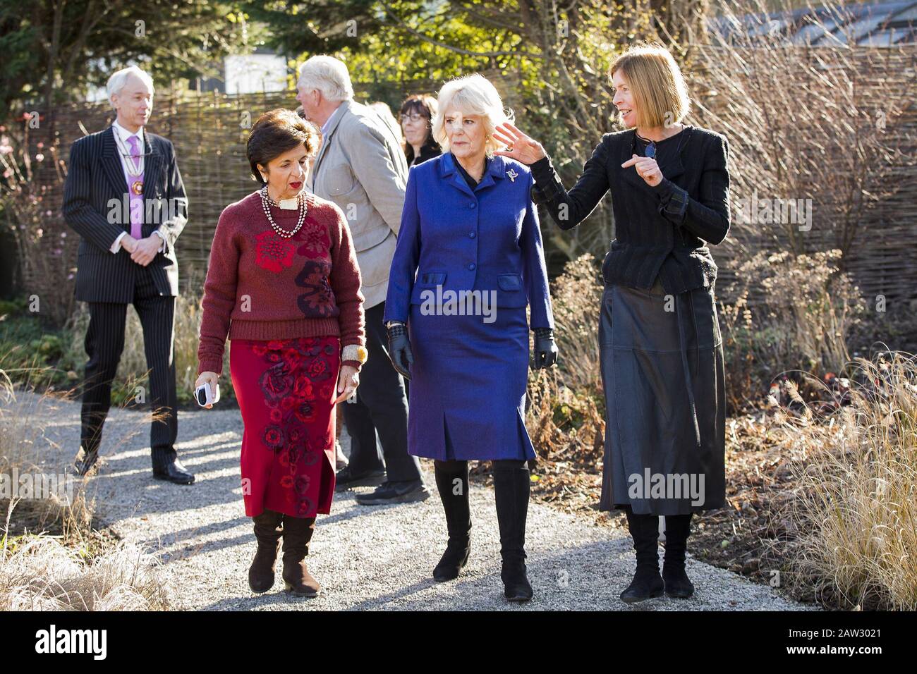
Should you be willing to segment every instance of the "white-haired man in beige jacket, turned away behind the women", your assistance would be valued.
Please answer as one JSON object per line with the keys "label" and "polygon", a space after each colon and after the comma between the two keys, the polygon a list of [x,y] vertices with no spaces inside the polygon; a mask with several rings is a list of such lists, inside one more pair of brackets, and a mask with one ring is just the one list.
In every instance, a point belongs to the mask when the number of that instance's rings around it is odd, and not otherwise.
{"label": "white-haired man in beige jacket, turned away behind the women", "polygon": [[420,464],[407,452],[404,383],[392,368],[382,324],[407,161],[392,128],[375,110],[353,100],[343,61],[313,56],[300,67],[296,89],[305,116],[322,130],[309,178],[312,191],[340,206],[347,217],[366,297],[369,359],[360,373],[356,402],[343,405],[352,444],[348,466],[337,471],[337,489],[379,484],[374,492],[357,495],[357,502],[367,505],[423,501],[429,492]]}

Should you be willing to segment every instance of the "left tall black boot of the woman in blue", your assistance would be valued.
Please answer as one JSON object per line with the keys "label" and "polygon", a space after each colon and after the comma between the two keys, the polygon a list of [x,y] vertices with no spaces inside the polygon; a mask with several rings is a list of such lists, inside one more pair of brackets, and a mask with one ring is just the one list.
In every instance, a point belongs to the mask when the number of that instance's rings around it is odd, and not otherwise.
{"label": "left tall black boot of the woman in blue", "polygon": [[471,551],[471,513],[468,504],[468,461],[433,463],[436,489],[446,511],[449,542],[446,552],[433,569],[433,580],[443,582],[458,578],[458,571],[467,563]]}

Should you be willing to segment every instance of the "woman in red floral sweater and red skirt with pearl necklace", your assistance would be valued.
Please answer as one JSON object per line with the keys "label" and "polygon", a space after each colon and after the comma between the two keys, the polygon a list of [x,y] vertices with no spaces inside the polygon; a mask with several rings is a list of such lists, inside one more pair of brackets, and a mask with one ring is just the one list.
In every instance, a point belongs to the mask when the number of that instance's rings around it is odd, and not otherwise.
{"label": "woman in red floral sweater and red skirt with pearl necklace", "polygon": [[304,190],[317,146],[318,131],[292,110],[272,110],[252,127],[247,155],[262,187],[226,206],[216,225],[195,383],[214,389],[229,337],[245,425],[242,496],[258,539],[249,586],[271,589],[282,537],[286,590],[309,597],[320,586],[304,557],[315,515],[330,512],[335,491],[331,413],[356,391],[366,361],[347,220]]}

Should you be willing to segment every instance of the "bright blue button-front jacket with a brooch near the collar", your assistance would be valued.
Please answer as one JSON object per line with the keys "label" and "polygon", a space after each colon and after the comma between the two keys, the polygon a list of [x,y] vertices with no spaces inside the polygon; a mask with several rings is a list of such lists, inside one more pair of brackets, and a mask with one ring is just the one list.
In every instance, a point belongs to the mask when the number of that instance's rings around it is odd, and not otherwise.
{"label": "bright blue button-front jacket with a brooch near the collar", "polygon": [[385,320],[407,321],[410,304],[438,284],[495,291],[499,307],[531,304],[532,327],[553,328],[531,171],[492,157],[472,193],[455,162],[446,152],[411,167]]}

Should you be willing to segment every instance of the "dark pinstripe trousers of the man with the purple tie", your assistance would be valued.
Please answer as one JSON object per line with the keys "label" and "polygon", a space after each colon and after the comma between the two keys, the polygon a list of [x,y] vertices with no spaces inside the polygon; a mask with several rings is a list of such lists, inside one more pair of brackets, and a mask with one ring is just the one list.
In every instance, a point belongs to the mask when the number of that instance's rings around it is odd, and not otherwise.
{"label": "dark pinstripe trousers of the man with the purple tie", "polygon": [[[111,407],[111,384],[124,350],[127,304],[90,302],[89,328],[84,346],[89,361],[83,378],[81,444],[95,451],[102,439],[102,427]],[[167,415],[150,426],[149,444],[154,465],[157,459],[174,456],[178,436],[178,400],[175,395],[174,327],[175,297],[156,290],[147,267],[139,267],[134,287],[134,308],[143,327],[143,348],[147,356],[152,410]]]}

